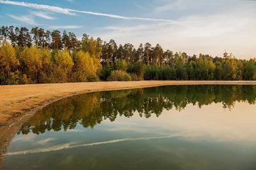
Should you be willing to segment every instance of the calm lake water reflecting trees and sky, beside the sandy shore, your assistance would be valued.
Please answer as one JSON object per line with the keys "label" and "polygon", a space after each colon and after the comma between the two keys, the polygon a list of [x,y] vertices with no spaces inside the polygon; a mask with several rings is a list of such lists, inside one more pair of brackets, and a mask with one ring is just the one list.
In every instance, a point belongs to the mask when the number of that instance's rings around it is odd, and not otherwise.
{"label": "calm lake water reflecting trees and sky, beside the sandy shore", "polygon": [[256,87],[95,92],[22,125],[4,169],[256,169]]}

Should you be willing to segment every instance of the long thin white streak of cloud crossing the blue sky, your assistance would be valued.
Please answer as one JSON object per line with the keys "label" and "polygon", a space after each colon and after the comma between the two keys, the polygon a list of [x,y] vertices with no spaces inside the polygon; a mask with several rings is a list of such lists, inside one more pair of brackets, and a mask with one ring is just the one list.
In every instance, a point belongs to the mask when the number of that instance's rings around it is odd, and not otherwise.
{"label": "long thin white streak of cloud crossing the blue sky", "polygon": [[109,13],[98,13],[93,11],[80,11],[80,10],[72,10],[68,8],[60,8],[58,6],[49,6],[45,4],[33,4],[33,3],[25,3],[25,2],[17,2],[17,1],[0,1],[2,4],[12,4],[17,6],[24,6],[28,8],[35,8],[37,10],[47,10],[53,11],[56,13],[63,13],[66,15],[76,15],[76,13],[86,13],[90,15],[98,15],[110,18],[118,18],[124,20],[148,20],[148,21],[162,21],[162,22],[173,22],[173,20],[161,19],[161,18],[141,18],[141,17],[125,17],[121,15],[109,14]]}

